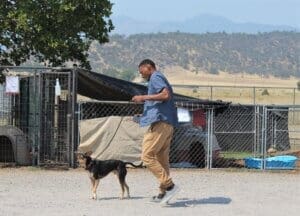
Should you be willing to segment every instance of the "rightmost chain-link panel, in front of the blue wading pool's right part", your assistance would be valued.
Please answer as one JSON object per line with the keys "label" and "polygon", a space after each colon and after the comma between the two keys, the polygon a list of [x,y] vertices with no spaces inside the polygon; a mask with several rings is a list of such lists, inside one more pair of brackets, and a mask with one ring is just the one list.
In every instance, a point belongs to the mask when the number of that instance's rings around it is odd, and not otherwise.
{"label": "rightmost chain-link panel, in front of the blue wading pool's right part", "polygon": [[299,169],[300,108],[265,107],[264,169]]}

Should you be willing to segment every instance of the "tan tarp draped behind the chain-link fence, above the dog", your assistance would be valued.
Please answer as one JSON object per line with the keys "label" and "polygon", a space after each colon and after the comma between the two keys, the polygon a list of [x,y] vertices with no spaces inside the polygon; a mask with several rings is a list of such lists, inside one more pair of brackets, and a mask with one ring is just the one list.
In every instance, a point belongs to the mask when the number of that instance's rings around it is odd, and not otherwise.
{"label": "tan tarp draped behind the chain-link fence, above the dog", "polygon": [[111,116],[80,122],[79,152],[92,151],[99,160],[117,159],[140,162],[141,145],[147,128],[132,117]]}

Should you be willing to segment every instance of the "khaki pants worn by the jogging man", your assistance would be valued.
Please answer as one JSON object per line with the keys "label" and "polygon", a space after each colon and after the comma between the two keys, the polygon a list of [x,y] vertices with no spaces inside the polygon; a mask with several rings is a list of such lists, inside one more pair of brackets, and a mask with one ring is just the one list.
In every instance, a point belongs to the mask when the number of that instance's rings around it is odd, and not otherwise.
{"label": "khaki pants worn by the jogging man", "polygon": [[173,126],[153,123],[144,135],[142,161],[160,182],[161,192],[173,184],[170,177],[169,153]]}

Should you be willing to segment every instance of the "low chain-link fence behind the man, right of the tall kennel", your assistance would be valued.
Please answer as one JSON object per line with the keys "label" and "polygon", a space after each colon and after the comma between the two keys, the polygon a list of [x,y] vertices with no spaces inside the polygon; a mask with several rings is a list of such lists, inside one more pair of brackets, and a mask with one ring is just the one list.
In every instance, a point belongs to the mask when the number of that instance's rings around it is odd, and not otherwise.
{"label": "low chain-link fence behind the man, right of the tall kennel", "polygon": [[[171,142],[172,167],[267,169],[264,164],[273,156],[300,156],[298,108],[230,105],[220,111],[218,107],[187,108],[185,103],[176,104],[179,126]],[[80,119],[87,122],[112,116],[127,117],[128,121],[143,111],[142,104],[116,101],[80,102],[79,107]],[[132,124],[136,123],[132,121]],[[145,130],[135,128],[135,133],[141,134],[135,143],[141,148]],[[122,139],[130,137],[124,135]],[[126,152],[128,149],[122,149],[122,139],[119,139],[119,150]],[[249,158],[261,160],[260,165],[248,166]],[[288,167],[283,164],[282,169],[285,168]]]}

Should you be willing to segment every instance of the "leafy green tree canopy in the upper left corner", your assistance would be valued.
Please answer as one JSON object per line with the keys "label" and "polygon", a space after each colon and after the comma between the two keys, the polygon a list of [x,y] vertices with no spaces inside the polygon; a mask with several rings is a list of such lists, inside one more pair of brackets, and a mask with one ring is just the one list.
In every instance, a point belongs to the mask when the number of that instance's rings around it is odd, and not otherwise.
{"label": "leafy green tree canopy in the upper left corner", "polygon": [[77,61],[90,69],[92,41],[113,30],[109,0],[1,0],[0,64],[20,65],[31,56],[47,66]]}

